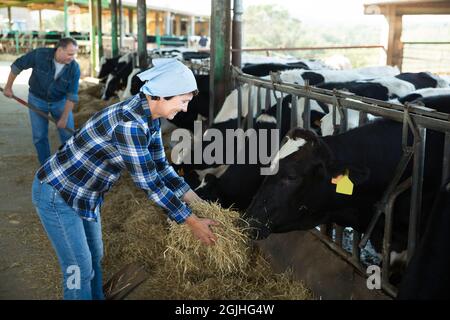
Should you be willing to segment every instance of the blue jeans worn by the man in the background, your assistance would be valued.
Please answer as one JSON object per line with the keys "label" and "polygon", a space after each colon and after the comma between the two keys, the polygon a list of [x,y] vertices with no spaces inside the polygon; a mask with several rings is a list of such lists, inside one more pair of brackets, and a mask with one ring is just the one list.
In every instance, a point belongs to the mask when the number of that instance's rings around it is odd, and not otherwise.
{"label": "blue jeans worn by the man in the background", "polygon": [[[31,92],[28,94],[28,103],[32,104],[35,108],[44,112],[50,113],[52,117],[58,121],[64,111],[66,99],[58,102],[47,102],[34,96]],[[36,148],[39,162],[44,164],[45,160],[50,157],[50,144],[48,142],[48,120],[30,110],[31,131],[33,133],[33,144]],[[74,128],[73,115],[70,112],[67,119],[67,128]],[[67,130],[58,129],[59,139],[61,144],[64,144],[72,136]]]}

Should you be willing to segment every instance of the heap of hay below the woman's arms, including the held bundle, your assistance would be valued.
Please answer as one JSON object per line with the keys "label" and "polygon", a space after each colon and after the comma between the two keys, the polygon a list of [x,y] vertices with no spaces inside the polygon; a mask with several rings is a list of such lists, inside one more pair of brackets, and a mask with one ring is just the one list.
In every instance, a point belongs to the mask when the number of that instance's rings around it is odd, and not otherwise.
{"label": "heap of hay below the woman's arms, including the held bundle", "polygon": [[[235,233],[246,228],[236,212],[216,204],[206,206],[194,207],[194,212],[221,222],[213,227],[217,247],[201,244],[187,226],[169,222],[129,176],[122,177],[107,194],[102,209],[105,280],[125,264],[139,262],[150,278],[131,299],[312,298],[292,272],[273,273],[245,232]],[[224,217],[218,216],[220,212]],[[230,242],[232,237],[237,239]],[[230,250],[230,244],[236,247]],[[230,250],[226,258],[224,250]]]}

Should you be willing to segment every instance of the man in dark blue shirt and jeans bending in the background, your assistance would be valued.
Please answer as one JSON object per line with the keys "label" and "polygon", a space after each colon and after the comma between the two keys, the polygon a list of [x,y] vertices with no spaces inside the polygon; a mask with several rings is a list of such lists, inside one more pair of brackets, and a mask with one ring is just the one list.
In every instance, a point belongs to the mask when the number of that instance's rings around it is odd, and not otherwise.
{"label": "man in dark blue shirt and jeans bending in the background", "polygon": [[[32,68],[28,103],[45,114],[50,113],[57,121],[61,144],[71,136],[65,128],[74,128],[72,109],[78,102],[80,79],[80,66],[75,61],[77,51],[78,45],[74,39],[63,38],[56,48],[38,48],[21,56],[11,65],[4,88],[4,95],[13,97],[12,86],[17,75]],[[32,110],[30,120],[33,144],[42,165],[50,157],[48,120]]]}

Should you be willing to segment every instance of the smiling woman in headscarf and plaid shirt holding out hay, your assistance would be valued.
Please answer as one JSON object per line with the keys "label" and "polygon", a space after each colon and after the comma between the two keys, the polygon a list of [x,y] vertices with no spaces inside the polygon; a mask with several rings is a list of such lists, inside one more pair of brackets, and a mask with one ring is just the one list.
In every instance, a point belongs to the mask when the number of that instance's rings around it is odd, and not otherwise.
{"label": "smiling woman in headscarf and plaid shirt holding out hay", "polygon": [[[138,76],[147,81],[141,92],[87,120],[33,182],[33,204],[59,258],[66,299],[104,298],[100,208],[122,169],[195,238],[206,245],[217,240],[210,229],[217,223],[192,213],[189,205],[201,199],[169,165],[161,139],[159,118],[186,110],[197,91],[194,75],[175,59],[154,59]],[[74,266],[79,286],[69,286]]]}

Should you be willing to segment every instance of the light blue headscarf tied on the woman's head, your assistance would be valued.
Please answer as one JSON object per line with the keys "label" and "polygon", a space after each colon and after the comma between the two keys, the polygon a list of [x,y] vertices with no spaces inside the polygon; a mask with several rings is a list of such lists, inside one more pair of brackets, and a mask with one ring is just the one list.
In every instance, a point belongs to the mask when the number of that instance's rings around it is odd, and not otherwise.
{"label": "light blue headscarf tied on the woman's head", "polygon": [[146,83],[141,92],[153,97],[172,97],[197,90],[194,74],[174,58],[153,59],[153,67],[137,76]]}

